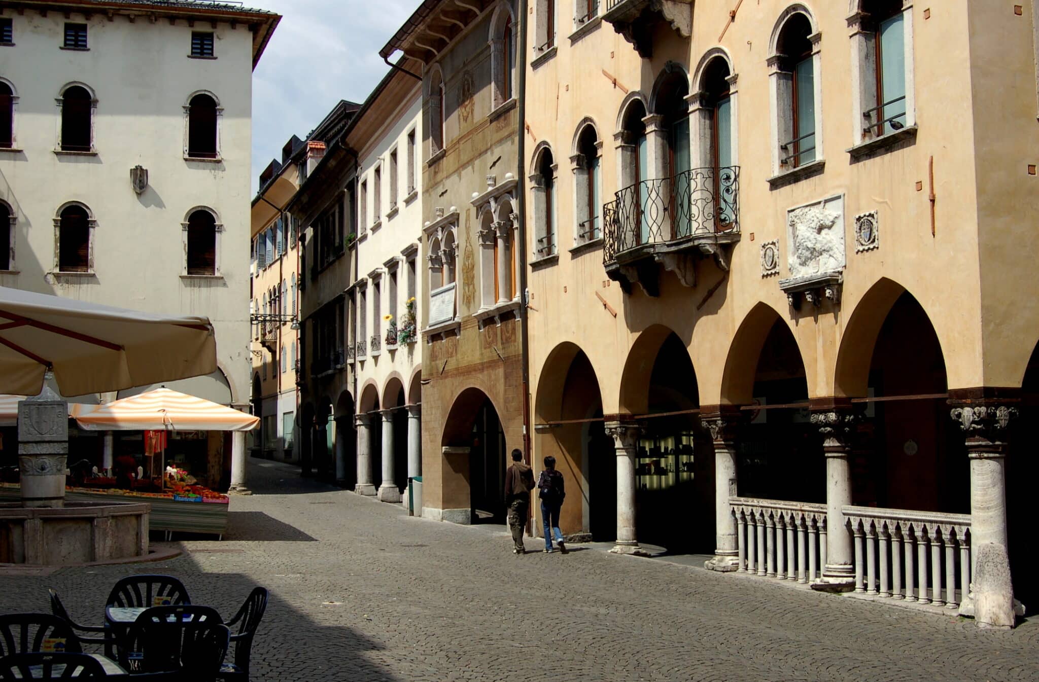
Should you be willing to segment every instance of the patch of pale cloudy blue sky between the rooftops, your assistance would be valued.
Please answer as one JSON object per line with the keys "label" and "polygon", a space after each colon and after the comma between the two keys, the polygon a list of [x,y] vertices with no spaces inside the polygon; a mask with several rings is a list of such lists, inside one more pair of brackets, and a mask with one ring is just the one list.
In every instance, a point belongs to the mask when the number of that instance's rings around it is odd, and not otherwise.
{"label": "patch of pale cloudy blue sky between the rooftops", "polygon": [[290,137],[304,139],[340,100],[367,99],[390,71],[379,50],[420,2],[245,0],[282,15],[252,72],[252,194]]}

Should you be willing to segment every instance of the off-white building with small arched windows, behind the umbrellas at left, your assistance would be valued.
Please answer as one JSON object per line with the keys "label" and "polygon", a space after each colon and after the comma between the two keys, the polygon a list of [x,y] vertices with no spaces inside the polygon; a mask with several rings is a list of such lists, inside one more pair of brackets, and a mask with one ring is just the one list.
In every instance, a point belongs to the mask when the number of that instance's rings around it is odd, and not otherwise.
{"label": "off-white building with small arched windows, behind the umbrellas at left", "polygon": [[[176,0],[12,4],[0,18],[0,285],[206,316],[219,371],[170,387],[246,408],[251,72],[279,17]],[[240,434],[233,453],[234,486]]]}

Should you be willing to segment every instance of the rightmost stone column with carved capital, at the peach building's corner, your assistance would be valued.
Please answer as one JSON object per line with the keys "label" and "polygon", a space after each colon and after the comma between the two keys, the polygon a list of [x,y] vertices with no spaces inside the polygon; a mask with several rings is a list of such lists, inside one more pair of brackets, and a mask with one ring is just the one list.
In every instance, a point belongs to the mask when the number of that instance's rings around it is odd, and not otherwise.
{"label": "rightmost stone column with carved capital, at the peach building's corner", "polygon": [[970,461],[970,594],[960,613],[982,624],[1013,627],[1015,608],[1007,554],[1007,425],[1017,409],[991,402],[958,402],[953,419],[966,433]]}

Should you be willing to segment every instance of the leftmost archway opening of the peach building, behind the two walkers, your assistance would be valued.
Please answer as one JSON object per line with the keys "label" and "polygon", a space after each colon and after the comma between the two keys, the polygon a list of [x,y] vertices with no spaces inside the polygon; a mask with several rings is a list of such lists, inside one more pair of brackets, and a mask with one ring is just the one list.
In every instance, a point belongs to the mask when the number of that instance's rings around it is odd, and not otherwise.
{"label": "leftmost archway opening of the peach building, behind the two walkers", "polygon": [[595,542],[615,540],[616,453],[603,422],[598,379],[584,351],[569,342],[556,347],[541,370],[537,393],[536,424],[570,422],[535,429],[538,459],[555,457],[566,482],[561,529],[590,533]]}

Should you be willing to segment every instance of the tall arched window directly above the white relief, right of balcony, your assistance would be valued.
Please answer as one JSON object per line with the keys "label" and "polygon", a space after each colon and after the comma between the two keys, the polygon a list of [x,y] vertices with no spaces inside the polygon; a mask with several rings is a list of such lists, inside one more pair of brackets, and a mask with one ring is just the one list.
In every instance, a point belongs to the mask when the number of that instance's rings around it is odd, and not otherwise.
{"label": "tall arched window directly above the white relief, right of balcony", "polygon": [[816,67],[808,17],[797,11],[782,25],[770,58],[776,99],[778,167],[781,172],[817,158]]}

